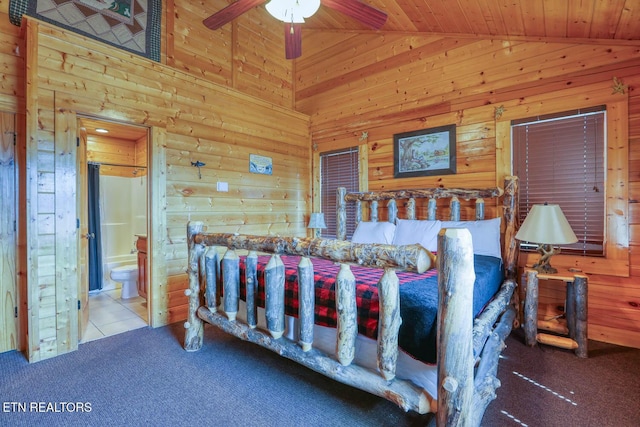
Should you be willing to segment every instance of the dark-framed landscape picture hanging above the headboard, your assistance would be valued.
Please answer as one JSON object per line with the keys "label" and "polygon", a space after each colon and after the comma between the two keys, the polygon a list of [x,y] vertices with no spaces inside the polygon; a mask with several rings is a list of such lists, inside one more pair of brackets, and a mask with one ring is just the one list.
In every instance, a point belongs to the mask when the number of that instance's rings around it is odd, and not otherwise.
{"label": "dark-framed landscape picture hanging above the headboard", "polygon": [[393,176],[456,173],[456,125],[393,135]]}

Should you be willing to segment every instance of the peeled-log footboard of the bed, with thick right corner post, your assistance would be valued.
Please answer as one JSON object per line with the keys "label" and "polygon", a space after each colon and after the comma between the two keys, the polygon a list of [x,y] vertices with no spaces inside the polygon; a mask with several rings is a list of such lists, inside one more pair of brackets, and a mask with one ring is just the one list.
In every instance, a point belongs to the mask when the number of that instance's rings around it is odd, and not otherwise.
{"label": "peeled-log footboard of the bed, with thick right corner post", "polygon": [[[445,392],[438,399],[428,395],[413,383],[395,377],[398,355],[398,329],[400,326],[398,279],[395,269],[422,272],[432,267],[434,257],[419,245],[395,247],[390,245],[352,244],[328,239],[297,239],[279,237],[241,236],[230,234],[203,234],[201,223],[190,223],[189,235],[189,315],[185,322],[184,348],[198,350],[202,346],[203,321],[215,325],[227,333],[294,360],[316,372],[383,397],[404,410],[418,413],[451,413],[459,418],[459,408],[470,407],[474,394],[474,356],[472,340],[472,314],[457,307],[469,304],[473,298],[473,251],[468,230],[443,230],[439,236],[441,253],[438,284],[443,300],[442,331],[439,335],[439,356],[445,363],[439,364],[439,377]],[[216,246],[227,248],[218,259]],[[239,268],[237,249],[249,251],[248,258],[257,251],[272,253],[267,265],[265,317],[268,330],[256,327],[255,301],[249,295],[246,301],[248,322],[236,317],[238,311]],[[336,352],[325,354],[313,348],[312,329],[300,334],[300,341],[293,342],[282,336],[284,319],[284,271],[281,254],[300,255],[298,267],[300,282],[299,313],[301,330],[306,322],[313,321],[313,298],[305,292],[312,287],[313,266],[310,257],[327,258],[341,264],[336,280],[338,324]],[[357,334],[355,281],[350,265],[364,265],[384,269],[378,283],[380,295],[380,319],[378,336],[378,370],[357,366],[352,362]],[[247,262],[246,274],[255,277],[255,267]],[[218,305],[215,280],[223,272],[224,302]],[[308,283],[307,283],[308,282]],[[252,283],[249,280],[247,283]],[[213,284],[213,285],[212,285]],[[247,292],[249,294],[249,291]],[[468,345],[459,345],[459,343]],[[445,353],[453,353],[445,354]],[[451,363],[446,361],[450,360]],[[462,406],[461,406],[462,405]],[[449,408],[444,410],[443,408]],[[438,410],[439,409],[439,410]],[[473,411],[466,411],[471,413]],[[448,423],[448,421],[445,421]],[[444,425],[444,424],[443,424]]]}

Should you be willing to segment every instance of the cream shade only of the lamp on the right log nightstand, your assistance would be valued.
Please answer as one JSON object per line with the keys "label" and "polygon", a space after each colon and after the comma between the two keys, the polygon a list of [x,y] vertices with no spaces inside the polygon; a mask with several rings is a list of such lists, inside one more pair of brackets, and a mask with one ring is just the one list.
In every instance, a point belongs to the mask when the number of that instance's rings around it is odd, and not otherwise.
{"label": "cream shade only of the lamp on the right log nightstand", "polygon": [[578,241],[560,206],[546,203],[531,207],[516,233],[516,239],[545,245],[564,245]]}

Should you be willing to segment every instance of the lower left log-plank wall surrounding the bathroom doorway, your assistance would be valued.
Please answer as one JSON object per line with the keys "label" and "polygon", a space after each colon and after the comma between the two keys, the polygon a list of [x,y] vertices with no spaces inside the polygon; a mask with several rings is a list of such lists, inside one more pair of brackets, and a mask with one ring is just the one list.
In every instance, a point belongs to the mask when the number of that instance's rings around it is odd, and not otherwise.
{"label": "lower left log-plank wall surrounding the bathroom doorway", "polygon": [[[152,326],[186,315],[187,221],[206,220],[229,232],[306,235],[306,115],[35,20],[23,26],[33,224],[27,225],[30,360],[77,348],[73,207],[80,115],[149,128]],[[110,146],[121,146],[115,154],[135,161],[135,144]],[[249,173],[249,154],[271,157],[273,174]],[[205,163],[200,175],[195,161]],[[228,183],[228,192],[216,191],[219,181]]]}

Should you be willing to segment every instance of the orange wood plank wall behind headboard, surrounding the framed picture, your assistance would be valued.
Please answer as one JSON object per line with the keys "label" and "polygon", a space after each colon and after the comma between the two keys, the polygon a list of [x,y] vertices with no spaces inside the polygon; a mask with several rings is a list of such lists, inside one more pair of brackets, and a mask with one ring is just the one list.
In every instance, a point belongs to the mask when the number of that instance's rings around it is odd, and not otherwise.
{"label": "orange wood plank wall behind headboard, surrounding the framed picture", "polygon": [[[559,255],[554,264],[592,273],[590,338],[640,347],[640,43],[313,31],[305,43],[296,108],[311,116],[314,151],[366,147],[369,190],[500,185],[511,172],[510,120],[607,105],[608,138],[620,143],[608,153],[612,259]],[[313,46],[335,49],[320,55]],[[614,93],[614,77],[624,94]],[[393,134],[448,124],[457,126],[457,173],[394,179]],[[520,265],[532,261],[524,254]],[[541,284],[542,302],[553,294]]]}

